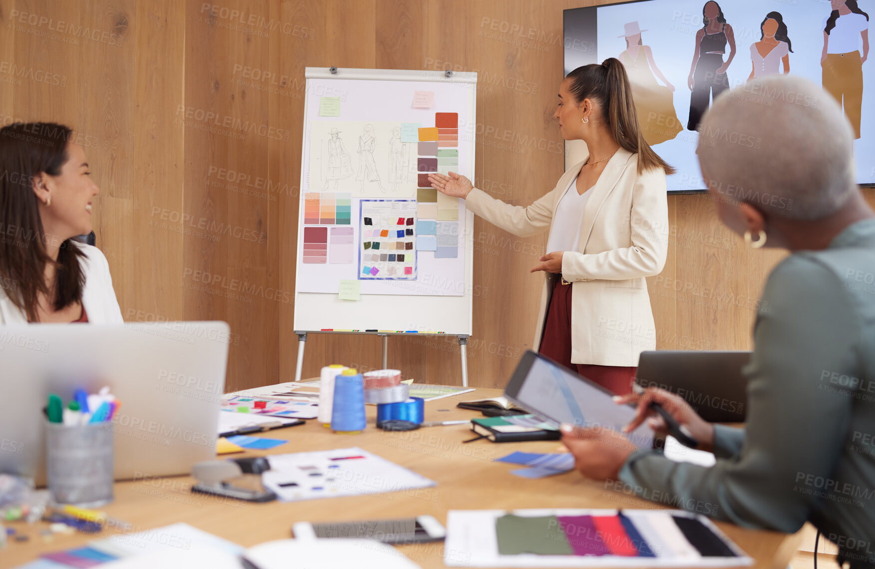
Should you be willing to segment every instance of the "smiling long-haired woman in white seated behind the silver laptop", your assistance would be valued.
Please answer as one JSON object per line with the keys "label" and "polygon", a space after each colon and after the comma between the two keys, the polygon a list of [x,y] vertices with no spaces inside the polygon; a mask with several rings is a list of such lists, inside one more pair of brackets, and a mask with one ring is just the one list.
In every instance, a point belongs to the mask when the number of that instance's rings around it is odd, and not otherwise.
{"label": "smiling long-haired woman in white seated behind the silver laptop", "polygon": [[73,131],[0,128],[0,325],[122,323],[109,264],[91,232],[97,185]]}

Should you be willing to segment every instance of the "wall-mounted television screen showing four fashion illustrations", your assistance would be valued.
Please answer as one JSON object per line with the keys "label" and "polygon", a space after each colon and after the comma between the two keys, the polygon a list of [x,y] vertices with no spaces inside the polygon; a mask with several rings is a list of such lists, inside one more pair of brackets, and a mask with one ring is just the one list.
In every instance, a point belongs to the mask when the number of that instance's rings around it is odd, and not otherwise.
{"label": "wall-mounted television screen showing four fashion illustrations", "polygon": [[[610,57],[623,62],[645,138],[677,169],[669,193],[681,193],[705,191],[696,128],[713,96],[789,68],[842,103],[858,136],[858,184],[872,186],[875,60],[863,57],[872,18],[875,0],[640,0],[564,10],[565,74]],[[567,146],[566,166],[583,148]]]}

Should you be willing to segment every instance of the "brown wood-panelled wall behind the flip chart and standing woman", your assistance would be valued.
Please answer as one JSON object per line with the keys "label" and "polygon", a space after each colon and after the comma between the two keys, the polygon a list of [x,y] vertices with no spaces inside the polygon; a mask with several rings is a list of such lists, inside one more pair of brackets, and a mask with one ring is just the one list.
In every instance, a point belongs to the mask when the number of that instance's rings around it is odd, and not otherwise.
{"label": "brown wood-panelled wall behind the flip chart and standing woman", "polygon": [[[0,64],[58,79],[0,66],[0,121],[61,121],[81,135],[127,320],[227,320],[228,386],[287,381],[304,67],[478,72],[477,121],[460,133],[476,143],[474,181],[528,205],[563,171],[552,116],[562,10],[597,3],[0,0]],[[704,195],[669,197],[669,223],[669,259],[648,279],[657,347],[750,348],[757,298],[784,253],[747,249]],[[528,271],[547,235],[519,239],[482,219],[473,230],[469,375],[501,386],[531,347],[542,281]],[[316,334],[306,353],[305,377],[332,362],[374,369],[381,341]],[[388,354],[405,377],[459,382],[455,338],[390,337]]]}

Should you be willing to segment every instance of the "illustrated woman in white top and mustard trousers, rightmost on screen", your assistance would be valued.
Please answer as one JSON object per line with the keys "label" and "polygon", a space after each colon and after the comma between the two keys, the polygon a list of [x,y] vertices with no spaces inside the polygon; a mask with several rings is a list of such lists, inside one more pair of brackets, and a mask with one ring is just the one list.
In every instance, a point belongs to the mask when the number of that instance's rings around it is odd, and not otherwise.
{"label": "illustrated woman in white top and mustard trousers, rightmost on screen", "polygon": [[[863,64],[869,58],[869,14],[857,0],[830,0],[832,11],[823,19],[823,90],[836,98],[860,137],[863,110]],[[860,39],[863,55],[860,55]]]}

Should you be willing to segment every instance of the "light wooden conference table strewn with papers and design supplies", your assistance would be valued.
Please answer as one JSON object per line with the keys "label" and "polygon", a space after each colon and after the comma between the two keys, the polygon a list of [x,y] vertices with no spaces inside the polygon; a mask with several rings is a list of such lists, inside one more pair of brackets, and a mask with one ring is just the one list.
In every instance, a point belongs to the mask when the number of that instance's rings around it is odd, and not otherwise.
{"label": "light wooden conference table strewn with papers and design supplies", "polygon": [[[479,412],[458,409],[459,400],[496,397],[497,389],[479,389],[454,397],[426,402],[425,420],[471,419]],[[338,522],[389,517],[431,515],[442,524],[447,510],[523,508],[660,508],[659,504],[615,491],[605,482],[585,480],[577,472],[528,480],[509,474],[513,464],[493,459],[516,450],[555,452],[558,441],[509,442],[486,440],[462,444],[472,438],[467,425],[423,427],[416,431],[384,432],[374,427],[376,408],[367,406],[367,430],[363,434],[332,434],[316,420],[305,425],[276,429],[259,436],[289,442],[269,451],[247,451],[234,458],[360,447],[414,470],[437,482],[427,489],[413,489],[371,496],[326,498],[293,503],[247,503],[206,496],[190,491],[193,478],[170,476],[116,482],[116,500],[101,510],[109,517],[129,522],[133,531],[186,522],[203,531],[249,547],[273,539],[291,537],[297,521]],[[43,543],[38,530],[47,524],[10,524],[30,535],[25,543],[12,542],[0,552],[0,567],[23,565],[40,554],[86,545],[94,534],[55,535]],[[718,523],[748,555],[756,567],[783,569],[795,552],[798,539],[773,531],[744,530]],[[108,537],[99,534],[96,538]],[[444,567],[443,543],[402,545],[399,549],[425,569]]]}

